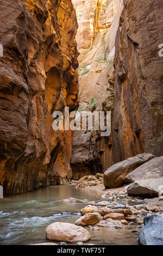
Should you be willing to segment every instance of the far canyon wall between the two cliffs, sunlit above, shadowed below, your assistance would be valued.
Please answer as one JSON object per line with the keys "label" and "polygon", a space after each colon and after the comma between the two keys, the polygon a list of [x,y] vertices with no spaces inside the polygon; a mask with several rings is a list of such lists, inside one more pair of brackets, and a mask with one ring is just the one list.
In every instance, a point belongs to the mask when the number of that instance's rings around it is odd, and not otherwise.
{"label": "far canyon wall between the two cliffs, sunlit above, shadowed below", "polygon": [[[97,111],[111,111],[114,104],[115,38],[123,3],[116,0],[72,2],[79,25],[79,108],[90,105],[93,98]],[[112,163],[111,136],[101,137],[97,131],[74,133],[71,160],[74,179],[104,172]]]}

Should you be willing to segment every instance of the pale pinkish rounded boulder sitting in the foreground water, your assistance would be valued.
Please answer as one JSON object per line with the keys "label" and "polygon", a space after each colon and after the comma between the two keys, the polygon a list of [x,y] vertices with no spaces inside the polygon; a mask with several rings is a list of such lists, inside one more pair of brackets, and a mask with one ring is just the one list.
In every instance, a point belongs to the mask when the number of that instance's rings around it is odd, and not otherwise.
{"label": "pale pinkish rounded boulder sitting in the foreground water", "polygon": [[91,238],[83,227],[64,222],[55,222],[46,229],[46,238],[51,241],[85,242]]}

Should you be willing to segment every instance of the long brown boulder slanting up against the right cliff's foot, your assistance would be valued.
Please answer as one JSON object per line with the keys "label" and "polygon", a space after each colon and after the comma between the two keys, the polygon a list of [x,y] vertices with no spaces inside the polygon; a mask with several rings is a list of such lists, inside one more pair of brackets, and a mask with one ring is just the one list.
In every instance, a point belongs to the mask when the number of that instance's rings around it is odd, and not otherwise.
{"label": "long brown boulder slanting up against the right cliff's foot", "polygon": [[141,164],[153,159],[154,157],[155,156],[152,154],[144,153],[114,164],[104,173],[105,188],[123,186],[125,184],[124,178],[126,178],[130,172],[133,172],[133,170],[141,166]]}

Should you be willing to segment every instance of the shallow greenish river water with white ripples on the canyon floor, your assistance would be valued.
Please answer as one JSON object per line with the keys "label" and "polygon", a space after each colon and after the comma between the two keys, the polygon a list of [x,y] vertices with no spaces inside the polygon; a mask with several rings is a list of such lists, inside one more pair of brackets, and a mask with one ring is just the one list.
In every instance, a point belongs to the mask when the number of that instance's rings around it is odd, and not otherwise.
{"label": "shallow greenish river water with white ripples on the canyon floor", "polygon": [[[65,203],[62,199],[74,197],[99,201],[96,191],[76,190],[73,185],[52,186],[5,197],[0,200],[0,245],[26,245],[47,242],[45,229],[53,222],[73,223],[85,204]],[[137,245],[136,234],[131,230],[100,228],[90,230],[95,245]]]}

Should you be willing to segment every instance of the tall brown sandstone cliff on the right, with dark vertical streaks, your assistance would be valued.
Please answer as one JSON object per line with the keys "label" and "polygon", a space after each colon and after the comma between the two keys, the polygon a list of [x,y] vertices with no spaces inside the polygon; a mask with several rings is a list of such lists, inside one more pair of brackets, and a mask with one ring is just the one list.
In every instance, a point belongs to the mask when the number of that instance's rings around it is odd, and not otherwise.
{"label": "tall brown sandstone cliff on the right, with dark vertical streaks", "polygon": [[140,153],[161,156],[163,42],[161,0],[124,1],[116,36],[112,121],[114,162]]}

